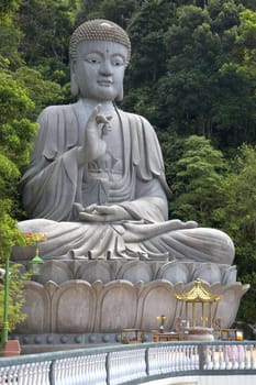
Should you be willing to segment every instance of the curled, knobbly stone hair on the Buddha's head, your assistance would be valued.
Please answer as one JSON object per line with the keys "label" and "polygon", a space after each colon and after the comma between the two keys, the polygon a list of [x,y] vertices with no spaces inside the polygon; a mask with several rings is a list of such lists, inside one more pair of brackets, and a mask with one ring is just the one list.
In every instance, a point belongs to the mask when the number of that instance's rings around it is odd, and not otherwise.
{"label": "curled, knobbly stone hair on the Buddha's head", "polygon": [[69,43],[70,61],[77,58],[77,46],[81,42],[107,41],[115,42],[127,48],[127,62],[131,57],[131,41],[126,32],[109,20],[94,19],[79,25],[73,33]]}

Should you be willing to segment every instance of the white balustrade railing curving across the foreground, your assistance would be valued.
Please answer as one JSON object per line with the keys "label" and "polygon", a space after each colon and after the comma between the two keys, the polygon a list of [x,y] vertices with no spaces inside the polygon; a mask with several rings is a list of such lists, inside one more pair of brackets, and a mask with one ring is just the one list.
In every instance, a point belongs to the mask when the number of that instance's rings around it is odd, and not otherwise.
{"label": "white balustrade railing curving across the foreground", "polygon": [[0,359],[0,384],[115,385],[180,375],[251,374],[256,341],[162,342]]}

